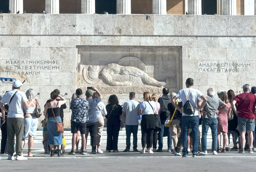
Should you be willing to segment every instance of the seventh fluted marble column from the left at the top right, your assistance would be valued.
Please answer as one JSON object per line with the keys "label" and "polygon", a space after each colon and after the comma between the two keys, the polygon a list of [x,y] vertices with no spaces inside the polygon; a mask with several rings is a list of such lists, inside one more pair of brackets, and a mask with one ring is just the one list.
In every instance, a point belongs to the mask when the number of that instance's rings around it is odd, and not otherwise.
{"label": "seventh fluted marble column from the left at the top right", "polygon": [[217,0],[217,14],[219,15],[237,15],[236,1]]}

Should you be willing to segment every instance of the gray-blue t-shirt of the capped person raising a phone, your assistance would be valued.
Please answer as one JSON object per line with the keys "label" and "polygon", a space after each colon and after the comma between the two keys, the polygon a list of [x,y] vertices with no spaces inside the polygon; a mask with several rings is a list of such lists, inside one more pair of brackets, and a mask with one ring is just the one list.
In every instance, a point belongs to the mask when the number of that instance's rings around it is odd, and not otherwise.
{"label": "gray-blue t-shirt of the capped person raising a phone", "polygon": [[89,110],[88,110],[88,118],[87,124],[97,122],[97,114],[96,114],[96,108],[97,104],[101,101],[100,97],[97,98],[89,98],[87,99],[89,103]]}

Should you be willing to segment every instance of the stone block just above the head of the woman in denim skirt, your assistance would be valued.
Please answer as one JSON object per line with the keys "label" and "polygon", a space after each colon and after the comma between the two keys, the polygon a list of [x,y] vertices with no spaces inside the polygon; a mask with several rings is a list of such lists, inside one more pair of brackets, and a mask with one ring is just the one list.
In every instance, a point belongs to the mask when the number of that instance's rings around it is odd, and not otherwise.
{"label": "stone block just above the head of the woman in denim skirt", "polygon": [[[53,85],[70,85],[70,72],[51,72],[50,84]],[[56,89],[56,88],[55,88]]]}

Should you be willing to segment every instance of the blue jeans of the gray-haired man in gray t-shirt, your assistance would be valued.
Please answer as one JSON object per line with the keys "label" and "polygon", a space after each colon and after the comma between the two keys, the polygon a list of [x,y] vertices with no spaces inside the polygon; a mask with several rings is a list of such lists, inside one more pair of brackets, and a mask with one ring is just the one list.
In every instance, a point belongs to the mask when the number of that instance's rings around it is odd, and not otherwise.
{"label": "blue jeans of the gray-haired man in gray t-shirt", "polygon": [[203,118],[202,119],[202,138],[201,138],[202,151],[207,150],[207,132],[209,127],[211,128],[211,131],[212,131],[212,151],[217,150],[218,119]]}

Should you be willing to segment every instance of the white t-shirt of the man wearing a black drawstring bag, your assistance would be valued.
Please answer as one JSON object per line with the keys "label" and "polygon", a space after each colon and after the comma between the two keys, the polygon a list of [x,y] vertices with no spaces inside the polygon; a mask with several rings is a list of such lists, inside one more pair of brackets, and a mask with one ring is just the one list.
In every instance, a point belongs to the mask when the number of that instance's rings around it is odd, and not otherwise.
{"label": "white t-shirt of the man wearing a black drawstring bag", "polygon": [[198,108],[196,108],[196,103],[198,98],[200,98],[203,94],[198,90],[194,88],[184,88],[181,89],[175,96],[177,98],[180,98],[182,100],[182,105],[186,103],[187,100],[190,101],[190,103],[195,108],[195,113],[192,115],[182,113],[182,116],[198,116]]}

